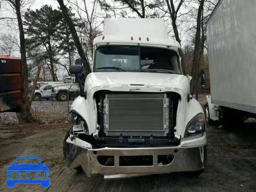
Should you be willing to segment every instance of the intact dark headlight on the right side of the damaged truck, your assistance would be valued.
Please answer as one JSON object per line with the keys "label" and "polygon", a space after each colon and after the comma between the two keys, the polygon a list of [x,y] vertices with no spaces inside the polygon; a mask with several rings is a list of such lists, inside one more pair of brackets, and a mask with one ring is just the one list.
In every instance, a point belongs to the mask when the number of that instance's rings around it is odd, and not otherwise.
{"label": "intact dark headlight on the right side of the damaged truck", "polygon": [[205,118],[203,113],[199,113],[186,126],[184,137],[194,136],[205,132]]}

